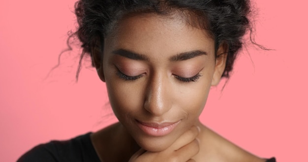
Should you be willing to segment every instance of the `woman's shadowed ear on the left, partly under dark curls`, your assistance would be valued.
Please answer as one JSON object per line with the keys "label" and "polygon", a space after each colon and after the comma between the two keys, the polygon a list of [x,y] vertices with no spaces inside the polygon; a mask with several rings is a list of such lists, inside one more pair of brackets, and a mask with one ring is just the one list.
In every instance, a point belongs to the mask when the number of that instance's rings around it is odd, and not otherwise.
{"label": "woman's shadowed ear on the left, partly under dark curls", "polygon": [[105,81],[103,71],[103,45],[104,41],[99,37],[96,37],[93,39],[91,47],[92,64],[96,68],[98,77],[101,81]]}

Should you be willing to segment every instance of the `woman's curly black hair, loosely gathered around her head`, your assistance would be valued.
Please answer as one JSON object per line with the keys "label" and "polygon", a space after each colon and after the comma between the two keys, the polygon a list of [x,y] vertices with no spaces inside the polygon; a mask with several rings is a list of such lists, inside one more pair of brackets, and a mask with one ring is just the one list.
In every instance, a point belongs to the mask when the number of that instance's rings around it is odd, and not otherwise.
{"label": "woman's curly black hair, loosely gathered around her head", "polygon": [[82,60],[85,54],[92,56],[93,39],[99,36],[103,41],[125,16],[142,13],[181,14],[189,25],[207,30],[215,40],[216,50],[222,44],[228,48],[222,77],[229,78],[234,60],[243,46],[243,36],[247,31],[250,34],[252,31],[248,19],[250,12],[249,0],[78,0],[75,14],[79,26],[73,35],[78,36],[82,43]]}

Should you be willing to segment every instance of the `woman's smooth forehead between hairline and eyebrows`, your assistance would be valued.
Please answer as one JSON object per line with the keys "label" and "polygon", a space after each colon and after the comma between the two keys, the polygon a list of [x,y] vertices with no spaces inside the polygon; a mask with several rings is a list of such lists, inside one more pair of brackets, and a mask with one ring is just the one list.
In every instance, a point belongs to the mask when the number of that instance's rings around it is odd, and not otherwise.
{"label": "woman's smooth forehead between hairline and eyebrows", "polygon": [[105,47],[126,49],[151,56],[173,55],[192,50],[214,54],[214,40],[206,30],[192,27],[181,16],[144,14],[125,17]]}

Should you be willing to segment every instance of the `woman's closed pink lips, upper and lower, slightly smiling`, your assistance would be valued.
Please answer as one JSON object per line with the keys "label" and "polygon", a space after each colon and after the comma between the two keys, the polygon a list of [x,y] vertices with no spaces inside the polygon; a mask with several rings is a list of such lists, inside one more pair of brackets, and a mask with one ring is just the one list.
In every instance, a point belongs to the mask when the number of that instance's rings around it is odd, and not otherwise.
{"label": "woman's closed pink lips, upper and lower, slightly smiling", "polygon": [[[181,121],[181,120],[180,120]],[[180,123],[165,122],[165,123],[145,123],[136,120],[137,126],[147,135],[164,136],[172,132],[172,130]]]}

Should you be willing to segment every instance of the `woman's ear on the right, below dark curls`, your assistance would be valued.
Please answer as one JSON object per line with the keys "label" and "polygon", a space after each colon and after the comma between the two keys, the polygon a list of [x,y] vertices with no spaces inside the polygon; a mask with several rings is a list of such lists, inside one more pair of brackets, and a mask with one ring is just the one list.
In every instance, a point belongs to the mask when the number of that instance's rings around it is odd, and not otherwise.
{"label": "woman's ear on the right, below dark curls", "polygon": [[212,86],[217,85],[221,79],[221,76],[226,67],[228,49],[229,47],[226,43],[221,43],[218,47]]}

